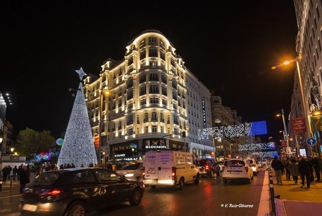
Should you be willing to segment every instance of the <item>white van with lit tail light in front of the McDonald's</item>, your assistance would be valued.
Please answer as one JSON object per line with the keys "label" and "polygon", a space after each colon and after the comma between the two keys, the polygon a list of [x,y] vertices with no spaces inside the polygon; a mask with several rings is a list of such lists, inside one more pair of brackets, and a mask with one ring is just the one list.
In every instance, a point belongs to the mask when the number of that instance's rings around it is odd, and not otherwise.
{"label": "white van with lit tail light in front of the McDonald's", "polygon": [[143,161],[143,183],[151,185],[177,186],[182,189],[185,182],[199,184],[199,170],[191,153],[182,151],[148,151]]}

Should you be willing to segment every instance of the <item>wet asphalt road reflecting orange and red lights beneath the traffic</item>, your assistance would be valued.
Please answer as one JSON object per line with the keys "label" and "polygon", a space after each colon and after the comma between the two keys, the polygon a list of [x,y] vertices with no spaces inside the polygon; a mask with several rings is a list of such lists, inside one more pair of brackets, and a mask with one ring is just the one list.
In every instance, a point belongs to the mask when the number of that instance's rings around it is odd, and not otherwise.
{"label": "wet asphalt road reflecting orange and red lights beneath the traffic", "polygon": [[[257,215],[263,181],[264,171],[261,171],[251,184],[228,181],[224,185],[220,176],[213,179],[201,178],[199,185],[188,183],[181,191],[170,187],[147,187],[140,205],[132,207],[123,203],[91,212],[89,216]],[[20,215],[19,198],[20,196],[0,198],[0,215]],[[229,204],[253,207],[225,207]]]}

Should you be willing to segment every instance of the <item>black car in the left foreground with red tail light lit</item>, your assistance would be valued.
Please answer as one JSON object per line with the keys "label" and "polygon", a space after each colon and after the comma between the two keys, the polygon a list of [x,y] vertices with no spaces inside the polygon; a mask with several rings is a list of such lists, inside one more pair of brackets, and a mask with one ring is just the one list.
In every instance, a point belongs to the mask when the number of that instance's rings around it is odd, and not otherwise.
{"label": "black car in the left foreground with red tail light lit", "polygon": [[74,168],[45,172],[24,189],[22,215],[85,215],[129,201],[141,202],[144,184],[112,170]]}

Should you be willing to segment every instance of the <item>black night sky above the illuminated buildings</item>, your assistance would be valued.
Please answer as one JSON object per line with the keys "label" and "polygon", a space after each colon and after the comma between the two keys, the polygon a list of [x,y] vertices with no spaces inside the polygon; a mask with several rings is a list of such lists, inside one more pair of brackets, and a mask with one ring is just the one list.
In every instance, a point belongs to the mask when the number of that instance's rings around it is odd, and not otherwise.
{"label": "black night sky above the illuminated buildings", "polygon": [[124,59],[127,42],[146,29],[163,32],[189,70],[244,121],[267,120],[273,135],[282,130],[274,114],[283,108],[288,115],[295,66],[270,67],[296,57],[291,0],[11,2],[0,15],[0,91],[13,94],[7,120],[14,134],[29,127],[60,137],[74,100],[68,88],[78,85],[74,70],[98,75],[107,58]]}

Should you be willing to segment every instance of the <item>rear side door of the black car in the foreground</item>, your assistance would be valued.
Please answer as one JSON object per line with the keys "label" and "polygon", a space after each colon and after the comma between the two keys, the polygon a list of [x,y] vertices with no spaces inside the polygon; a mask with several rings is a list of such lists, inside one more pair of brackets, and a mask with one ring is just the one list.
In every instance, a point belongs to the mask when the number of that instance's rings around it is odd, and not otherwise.
{"label": "rear side door of the black car in the foreground", "polygon": [[99,183],[91,170],[82,170],[72,175],[72,193],[86,200],[87,208],[94,210],[99,208],[98,191]]}

